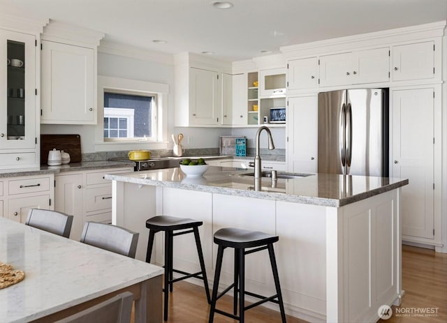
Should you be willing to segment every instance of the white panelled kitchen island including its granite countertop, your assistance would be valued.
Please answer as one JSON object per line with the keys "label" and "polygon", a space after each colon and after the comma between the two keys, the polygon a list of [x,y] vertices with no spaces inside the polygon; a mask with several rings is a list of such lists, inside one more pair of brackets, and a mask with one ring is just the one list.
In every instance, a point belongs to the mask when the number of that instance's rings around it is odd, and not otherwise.
{"label": "white panelled kitchen island including its granite countertop", "polygon": [[[210,279],[217,253],[212,236],[221,227],[279,235],[279,278],[290,315],[309,322],[375,322],[380,306],[400,302],[400,188],[408,180],[335,174],[255,180],[247,170],[230,167],[209,167],[201,177],[170,168],[106,179],[113,181],[113,223],[140,232],[140,260],[147,218],[195,218],[203,220]],[[161,239],[156,236],[158,264]],[[193,238],[179,236],[174,244],[174,266],[198,271]],[[233,279],[233,257],[223,262],[221,288]],[[247,259],[246,285],[250,292],[274,294],[266,252]]]}

